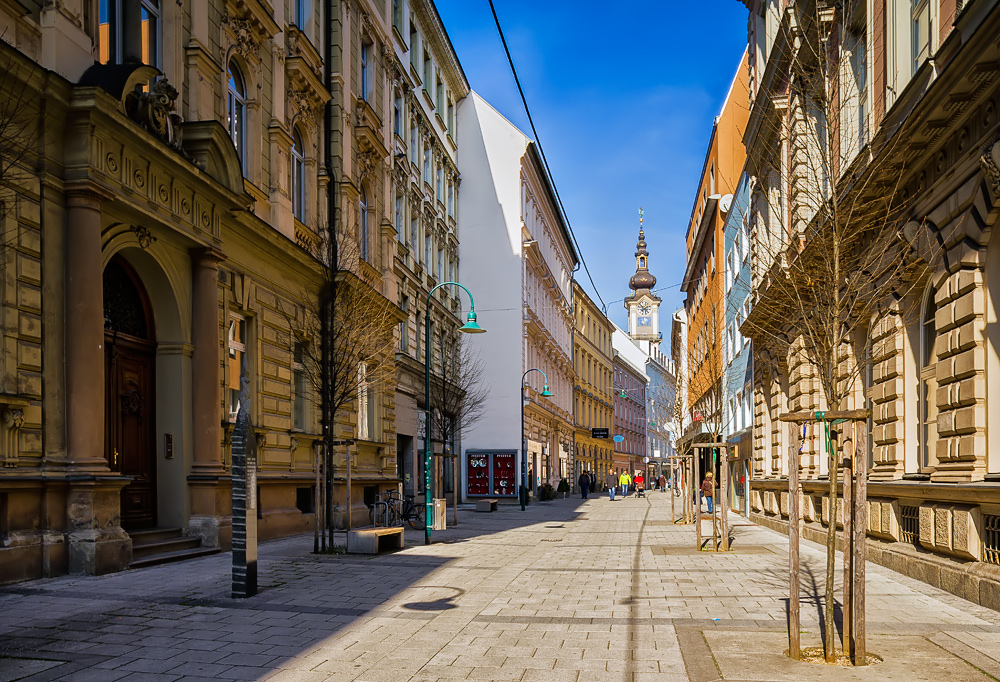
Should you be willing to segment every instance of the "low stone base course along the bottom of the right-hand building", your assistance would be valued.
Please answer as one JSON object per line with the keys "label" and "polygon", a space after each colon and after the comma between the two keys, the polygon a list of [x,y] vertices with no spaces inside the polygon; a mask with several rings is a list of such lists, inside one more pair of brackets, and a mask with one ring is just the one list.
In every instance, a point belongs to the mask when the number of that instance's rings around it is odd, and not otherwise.
{"label": "low stone base course along the bottom of the right-hand building", "polygon": [[[788,520],[775,514],[752,512],[750,520],[788,534]],[[801,534],[806,540],[825,544],[826,526],[804,523]],[[837,549],[843,550],[843,534],[838,532]],[[887,542],[868,538],[868,560],[921,580],[963,599],[1000,611],[1000,566],[981,561],[963,561],[925,550],[907,542]]]}

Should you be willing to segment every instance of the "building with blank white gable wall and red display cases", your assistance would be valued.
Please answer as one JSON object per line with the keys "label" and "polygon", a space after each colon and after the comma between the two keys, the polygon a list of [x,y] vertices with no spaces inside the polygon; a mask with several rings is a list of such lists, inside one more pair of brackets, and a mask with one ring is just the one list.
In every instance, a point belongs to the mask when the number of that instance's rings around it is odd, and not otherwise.
{"label": "building with blank white gable wall and red display cases", "polygon": [[458,109],[460,281],[488,334],[473,343],[489,384],[486,417],[464,434],[462,496],[517,499],[520,381],[529,487],[571,474],[572,277],[578,258],[535,144],[477,93]]}

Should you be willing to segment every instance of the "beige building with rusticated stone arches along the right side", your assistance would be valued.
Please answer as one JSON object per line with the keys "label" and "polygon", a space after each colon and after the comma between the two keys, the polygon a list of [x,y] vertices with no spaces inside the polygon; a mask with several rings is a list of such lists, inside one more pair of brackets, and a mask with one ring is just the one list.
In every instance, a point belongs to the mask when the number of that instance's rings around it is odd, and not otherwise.
{"label": "beige building with rusticated stone arches along the right side", "polygon": [[[795,135],[814,119],[797,118],[804,107],[794,90],[782,89],[785,59],[774,56],[788,47],[785,29],[803,8],[745,4],[751,230],[759,245],[783,217],[799,227],[802,206],[777,215],[791,195],[789,175],[781,166],[768,171],[765,161],[800,161],[796,154],[808,147],[796,148]],[[905,294],[887,304],[871,334],[845,349],[843,380],[851,390],[845,404],[827,406],[800,338],[790,338],[781,357],[766,352],[770,344],[758,349],[758,339],[783,329],[758,312],[768,295],[762,273],[772,264],[754,264],[755,308],[744,326],[755,336],[752,515],[787,527],[790,436],[778,421],[782,413],[867,409],[869,559],[998,608],[1000,4],[932,0],[856,9],[850,17],[824,18],[843,29],[850,54],[839,95],[841,165],[831,179],[860,177],[866,167],[892,160],[899,238],[906,257],[923,267],[914,268],[918,280],[900,286]],[[860,368],[855,374],[852,363]],[[815,539],[830,522],[818,429],[802,452],[803,533]]]}

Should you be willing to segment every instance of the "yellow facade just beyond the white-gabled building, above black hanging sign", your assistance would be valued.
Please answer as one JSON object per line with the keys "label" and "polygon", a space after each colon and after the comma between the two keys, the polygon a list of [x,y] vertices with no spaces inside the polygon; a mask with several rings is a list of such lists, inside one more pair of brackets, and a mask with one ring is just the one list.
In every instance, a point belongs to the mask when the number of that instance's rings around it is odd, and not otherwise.
{"label": "yellow facade just beyond the white-gabled building, above black hanging sign", "polygon": [[[574,480],[589,471],[605,481],[612,469],[614,394],[611,337],[614,325],[580,284],[573,280],[573,386]],[[604,429],[595,438],[594,429]],[[600,432],[598,432],[600,434]]]}

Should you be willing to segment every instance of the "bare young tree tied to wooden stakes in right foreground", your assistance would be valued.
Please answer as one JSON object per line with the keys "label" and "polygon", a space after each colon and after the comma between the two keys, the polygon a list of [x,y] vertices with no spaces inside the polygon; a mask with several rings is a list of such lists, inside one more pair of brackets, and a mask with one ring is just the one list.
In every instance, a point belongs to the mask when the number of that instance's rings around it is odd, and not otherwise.
{"label": "bare young tree tied to wooden stakes in right foreground", "polygon": [[[843,410],[859,393],[873,327],[898,311],[923,277],[902,229],[905,136],[887,126],[870,129],[863,0],[812,0],[786,12],[769,57],[776,76],[751,111],[754,308],[741,331],[754,340],[756,360],[777,360],[755,371],[796,368],[805,387],[801,407]],[[831,510],[827,660],[835,655],[836,629],[839,460],[832,439],[821,438]]]}

